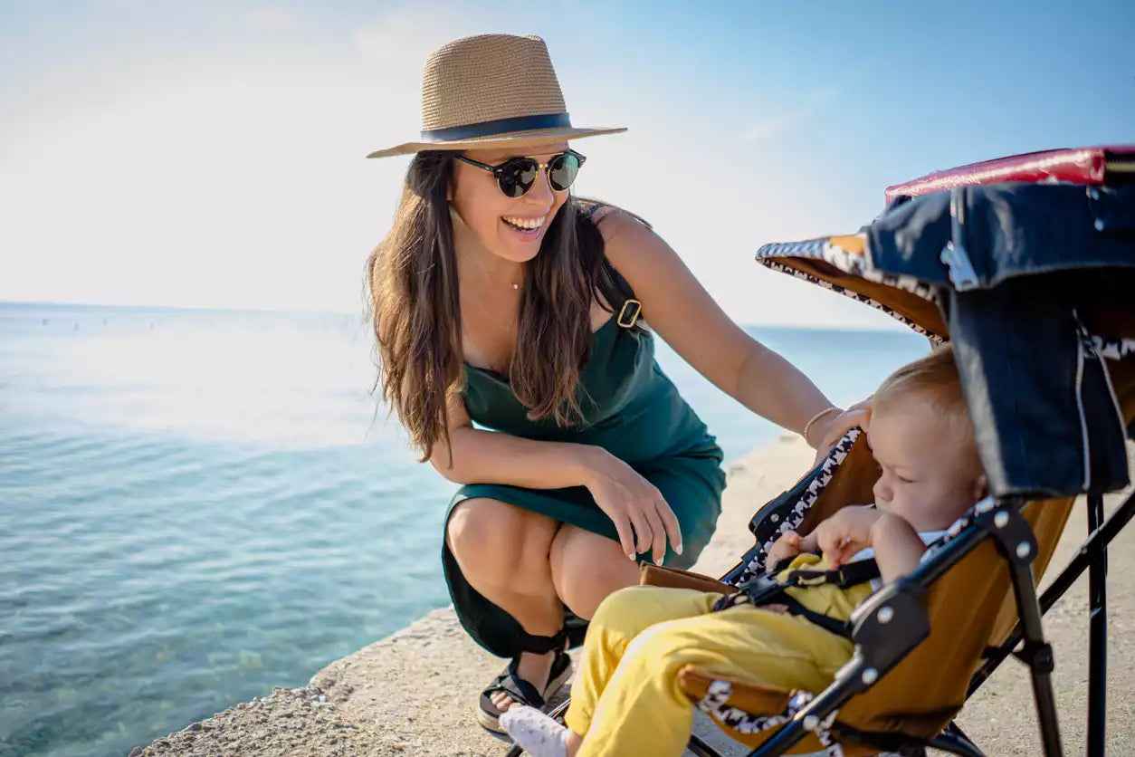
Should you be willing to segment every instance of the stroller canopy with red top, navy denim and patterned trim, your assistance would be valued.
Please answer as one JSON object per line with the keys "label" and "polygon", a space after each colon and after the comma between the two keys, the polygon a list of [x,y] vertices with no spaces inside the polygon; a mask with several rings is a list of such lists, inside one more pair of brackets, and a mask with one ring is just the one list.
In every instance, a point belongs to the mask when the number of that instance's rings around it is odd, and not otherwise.
{"label": "stroller canopy with red top, navy denim and patterned trim", "polygon": [[1135,354],[1135,145],[975,163],[888,197],[858,234],[757,259],[949,338],[994,496],[1126,486],[1104,359]]}

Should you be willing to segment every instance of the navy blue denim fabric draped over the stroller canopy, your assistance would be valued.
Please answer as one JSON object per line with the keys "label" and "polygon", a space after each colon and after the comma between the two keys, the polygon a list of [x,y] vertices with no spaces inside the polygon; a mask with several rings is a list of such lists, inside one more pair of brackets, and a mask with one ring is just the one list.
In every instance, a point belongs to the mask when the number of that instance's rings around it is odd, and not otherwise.
{"label": "navy blue denim fabric draped over the stroller canopy", "polygon": [[1124,420],[1085,325],[1100,305],[1135,309],[1135,186],[956,187],[864,233],[875,271],[940,287],[993,495],[1127,485]]}

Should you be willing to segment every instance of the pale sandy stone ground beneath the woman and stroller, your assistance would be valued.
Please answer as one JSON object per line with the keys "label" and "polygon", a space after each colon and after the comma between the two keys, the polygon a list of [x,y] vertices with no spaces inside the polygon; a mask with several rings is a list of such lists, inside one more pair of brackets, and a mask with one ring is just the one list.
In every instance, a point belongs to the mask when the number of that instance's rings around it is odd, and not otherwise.
{"label": "pale sandy stone ground beneath the woman and stroller", "polygon": [[[764,502],[807,470],[810,451],[785,437],[750,453],[729,471],[717,532],[696,570],[718,575],[751,546],[746,525]],[[1112,505],[1116,498],[1111,499]],[[1073,513],[1053,569],[1084,538],[1083,507]],[[1108,754],[1135,755],[1135,588],[1124,580],[1135,556],[1135,529],[1110,550]],[[1066,754],[1083,754],[1087,697],[1086,577],[1049,613],[1045,629],[1057,655],[1054,689]],[[338,659],[303,689],[276,689],[212,718],[138,747],[144,755],[503,755],[505,742],[473,717],[478,692],[502,661],[477,647],[453,609],[429,613],[409,628]],[[1026,668],[1009,661],[973,698],[960,723],[987,755],[1039,755],[1036,716]],[[724,754],[747,750],[699,720],[696,731]]]}

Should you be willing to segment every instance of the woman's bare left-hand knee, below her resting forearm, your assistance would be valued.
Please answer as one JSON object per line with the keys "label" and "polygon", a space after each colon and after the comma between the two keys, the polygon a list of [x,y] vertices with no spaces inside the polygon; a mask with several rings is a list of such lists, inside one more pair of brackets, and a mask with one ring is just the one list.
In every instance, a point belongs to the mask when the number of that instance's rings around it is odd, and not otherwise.
{"label": "woman's bare left-hand knee, below her resting forearm", "polygon": [[528,577],[544,577],[557,523],[497,499],[465,499],[446,523],[449,549],[465,573],[522,589]]}

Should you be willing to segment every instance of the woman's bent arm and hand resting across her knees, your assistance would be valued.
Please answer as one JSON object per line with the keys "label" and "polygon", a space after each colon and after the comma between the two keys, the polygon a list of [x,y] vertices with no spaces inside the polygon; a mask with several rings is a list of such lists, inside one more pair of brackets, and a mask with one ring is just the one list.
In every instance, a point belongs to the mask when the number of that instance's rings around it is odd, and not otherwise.
{"label": "woman's bent arm and hand resting across her knees", "polygon": [[447,411],[449,446],[438,440],[429,462],[449,481],[529,489],[583,486],[614,523],[628,557],[634,560],[637,554],[649,552],[661,564],[667,540],[682,554],[682,531],[662,493],[603,447],[474,429],[455,393],[447,401]]}

